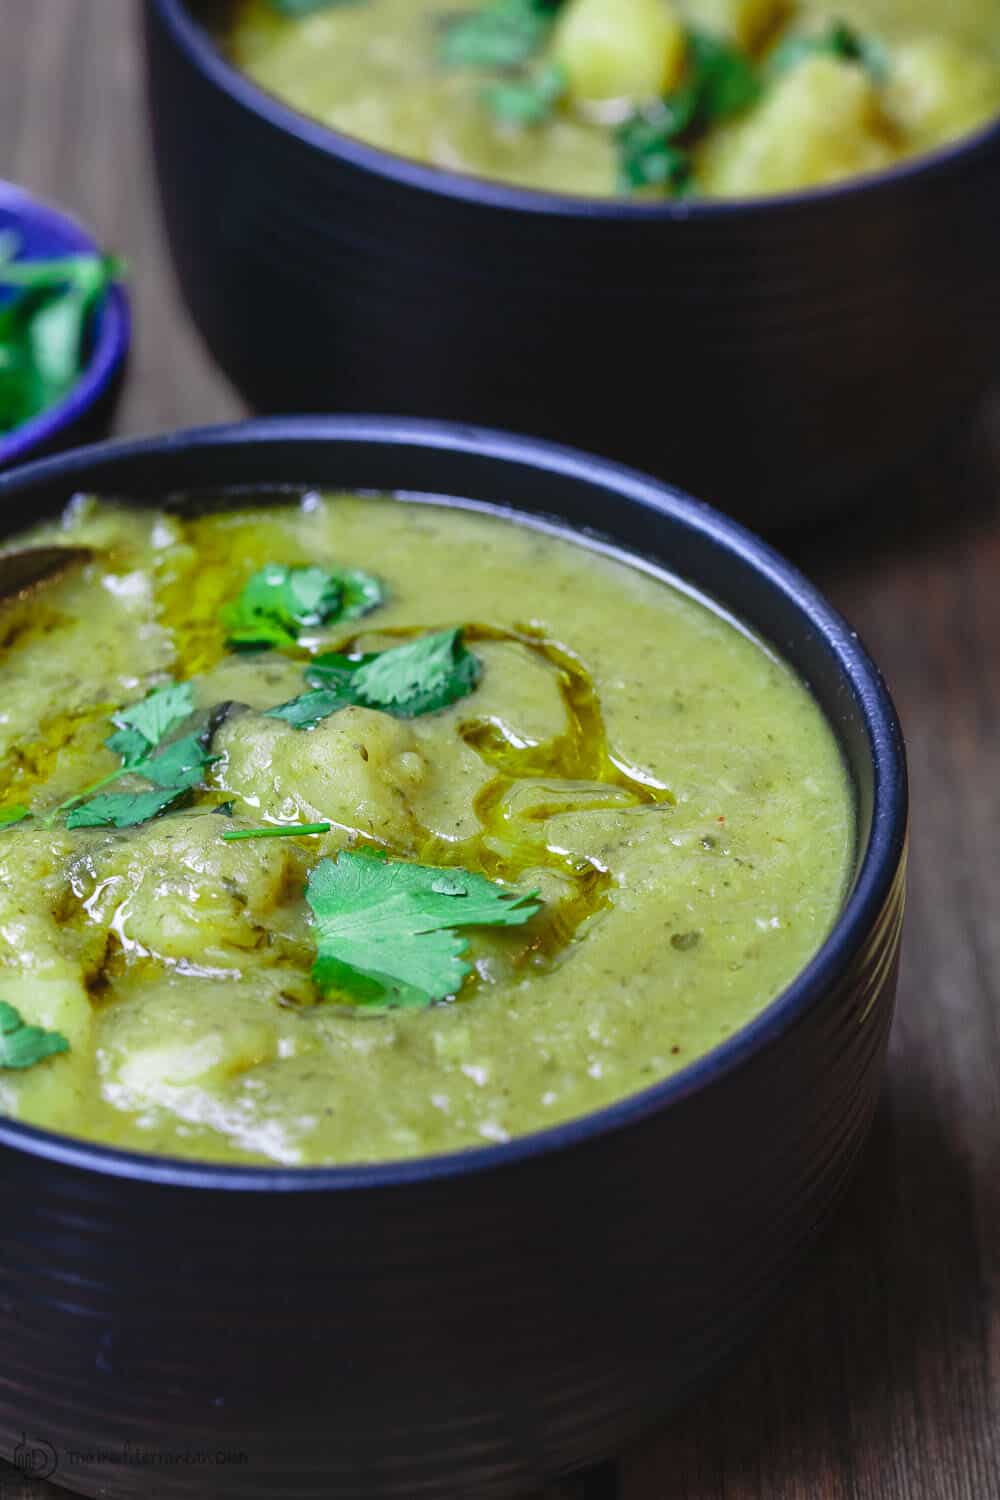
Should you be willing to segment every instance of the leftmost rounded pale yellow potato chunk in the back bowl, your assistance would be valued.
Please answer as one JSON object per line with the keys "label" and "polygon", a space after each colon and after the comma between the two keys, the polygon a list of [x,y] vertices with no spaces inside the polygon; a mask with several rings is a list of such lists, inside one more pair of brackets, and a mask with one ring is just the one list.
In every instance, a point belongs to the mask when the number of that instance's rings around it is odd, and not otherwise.
{"label": "leftmost rounded pale yellow potato chunk in the back bowl", "polygon": [[678,82],[684,57],[667,0],[570,0],[553,42],[570,98],[588,104],[654,99]]}

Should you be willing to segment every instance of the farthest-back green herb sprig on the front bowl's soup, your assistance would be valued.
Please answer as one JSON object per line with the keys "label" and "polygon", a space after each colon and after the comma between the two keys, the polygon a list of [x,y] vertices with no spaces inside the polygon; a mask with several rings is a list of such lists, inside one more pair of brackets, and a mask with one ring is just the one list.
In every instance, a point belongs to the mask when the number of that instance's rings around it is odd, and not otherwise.
{"label": "farthest-back green herb sprig on the front bowl's soup", "polygon": [[382,585],[361,568],[285,567],[268,562],[222,609],[226,645],[237,651],[295,645],[304,630],[360,620],[384,600]]}

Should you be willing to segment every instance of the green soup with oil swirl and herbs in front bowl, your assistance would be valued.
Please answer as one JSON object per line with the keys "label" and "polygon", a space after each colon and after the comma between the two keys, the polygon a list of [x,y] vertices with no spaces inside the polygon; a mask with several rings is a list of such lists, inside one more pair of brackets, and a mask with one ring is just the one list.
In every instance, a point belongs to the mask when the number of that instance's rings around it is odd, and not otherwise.
{"label": "green soup with oil swirl and herbs in front bowl", "polygon": [[0,612],[0,1112],[397,1160],[580,1116],[757,1016],[853,858],[792,670],[552,530],[279,500],[76,500],[4,548],[82,550]]}

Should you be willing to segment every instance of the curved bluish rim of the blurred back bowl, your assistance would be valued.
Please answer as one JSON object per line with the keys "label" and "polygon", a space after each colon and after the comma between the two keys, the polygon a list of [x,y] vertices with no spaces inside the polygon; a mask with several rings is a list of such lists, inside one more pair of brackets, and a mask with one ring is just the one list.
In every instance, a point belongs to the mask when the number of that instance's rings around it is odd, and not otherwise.
{"label": "curved bluish rim of the blurred back bowl", "polygon": [[913,178],[948,172],[972,158],[990,153],[994,146],[1000,146],[1000,116],[997,116],[957,141],[933,152],[922,152],[919,156],[897,162],[883,171],[850,177],[822,188],[804,188],[796,192],[771,194],[760,198],[633,202],[619,198],[585,198],[537,188],[517,188],[387,152],[360,136],[336,130],[321,120],[301,114],[228,62],[208,30],[192,14],[189,0],[145,0],[145,3],[147,10],[154,10],[159,15],[174,44],[187,54],[202,76],[262,123],[291,135],[300,146],[367,171],[375,177],[481,208],[520,210],[538,216],[588,220],[702,224],[706,219],[721,219],[726,222],[733,216],[751,212],[792,213],[901,188]]}

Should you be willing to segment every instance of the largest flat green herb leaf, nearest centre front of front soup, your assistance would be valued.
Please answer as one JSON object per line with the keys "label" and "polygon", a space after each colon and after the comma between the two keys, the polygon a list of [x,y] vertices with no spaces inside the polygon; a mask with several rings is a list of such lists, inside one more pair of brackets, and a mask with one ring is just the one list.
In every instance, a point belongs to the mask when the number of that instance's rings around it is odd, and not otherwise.
{"label": "largest flat green herb leaf, nearest centre front of front soup", "polygon": [[321,860],[306,898],[316,928],[312,976],[324,993],[366,1006],[426,1006],[469,974],[459,927],[519,927],[540,908],[465,870],[343,852]]}

